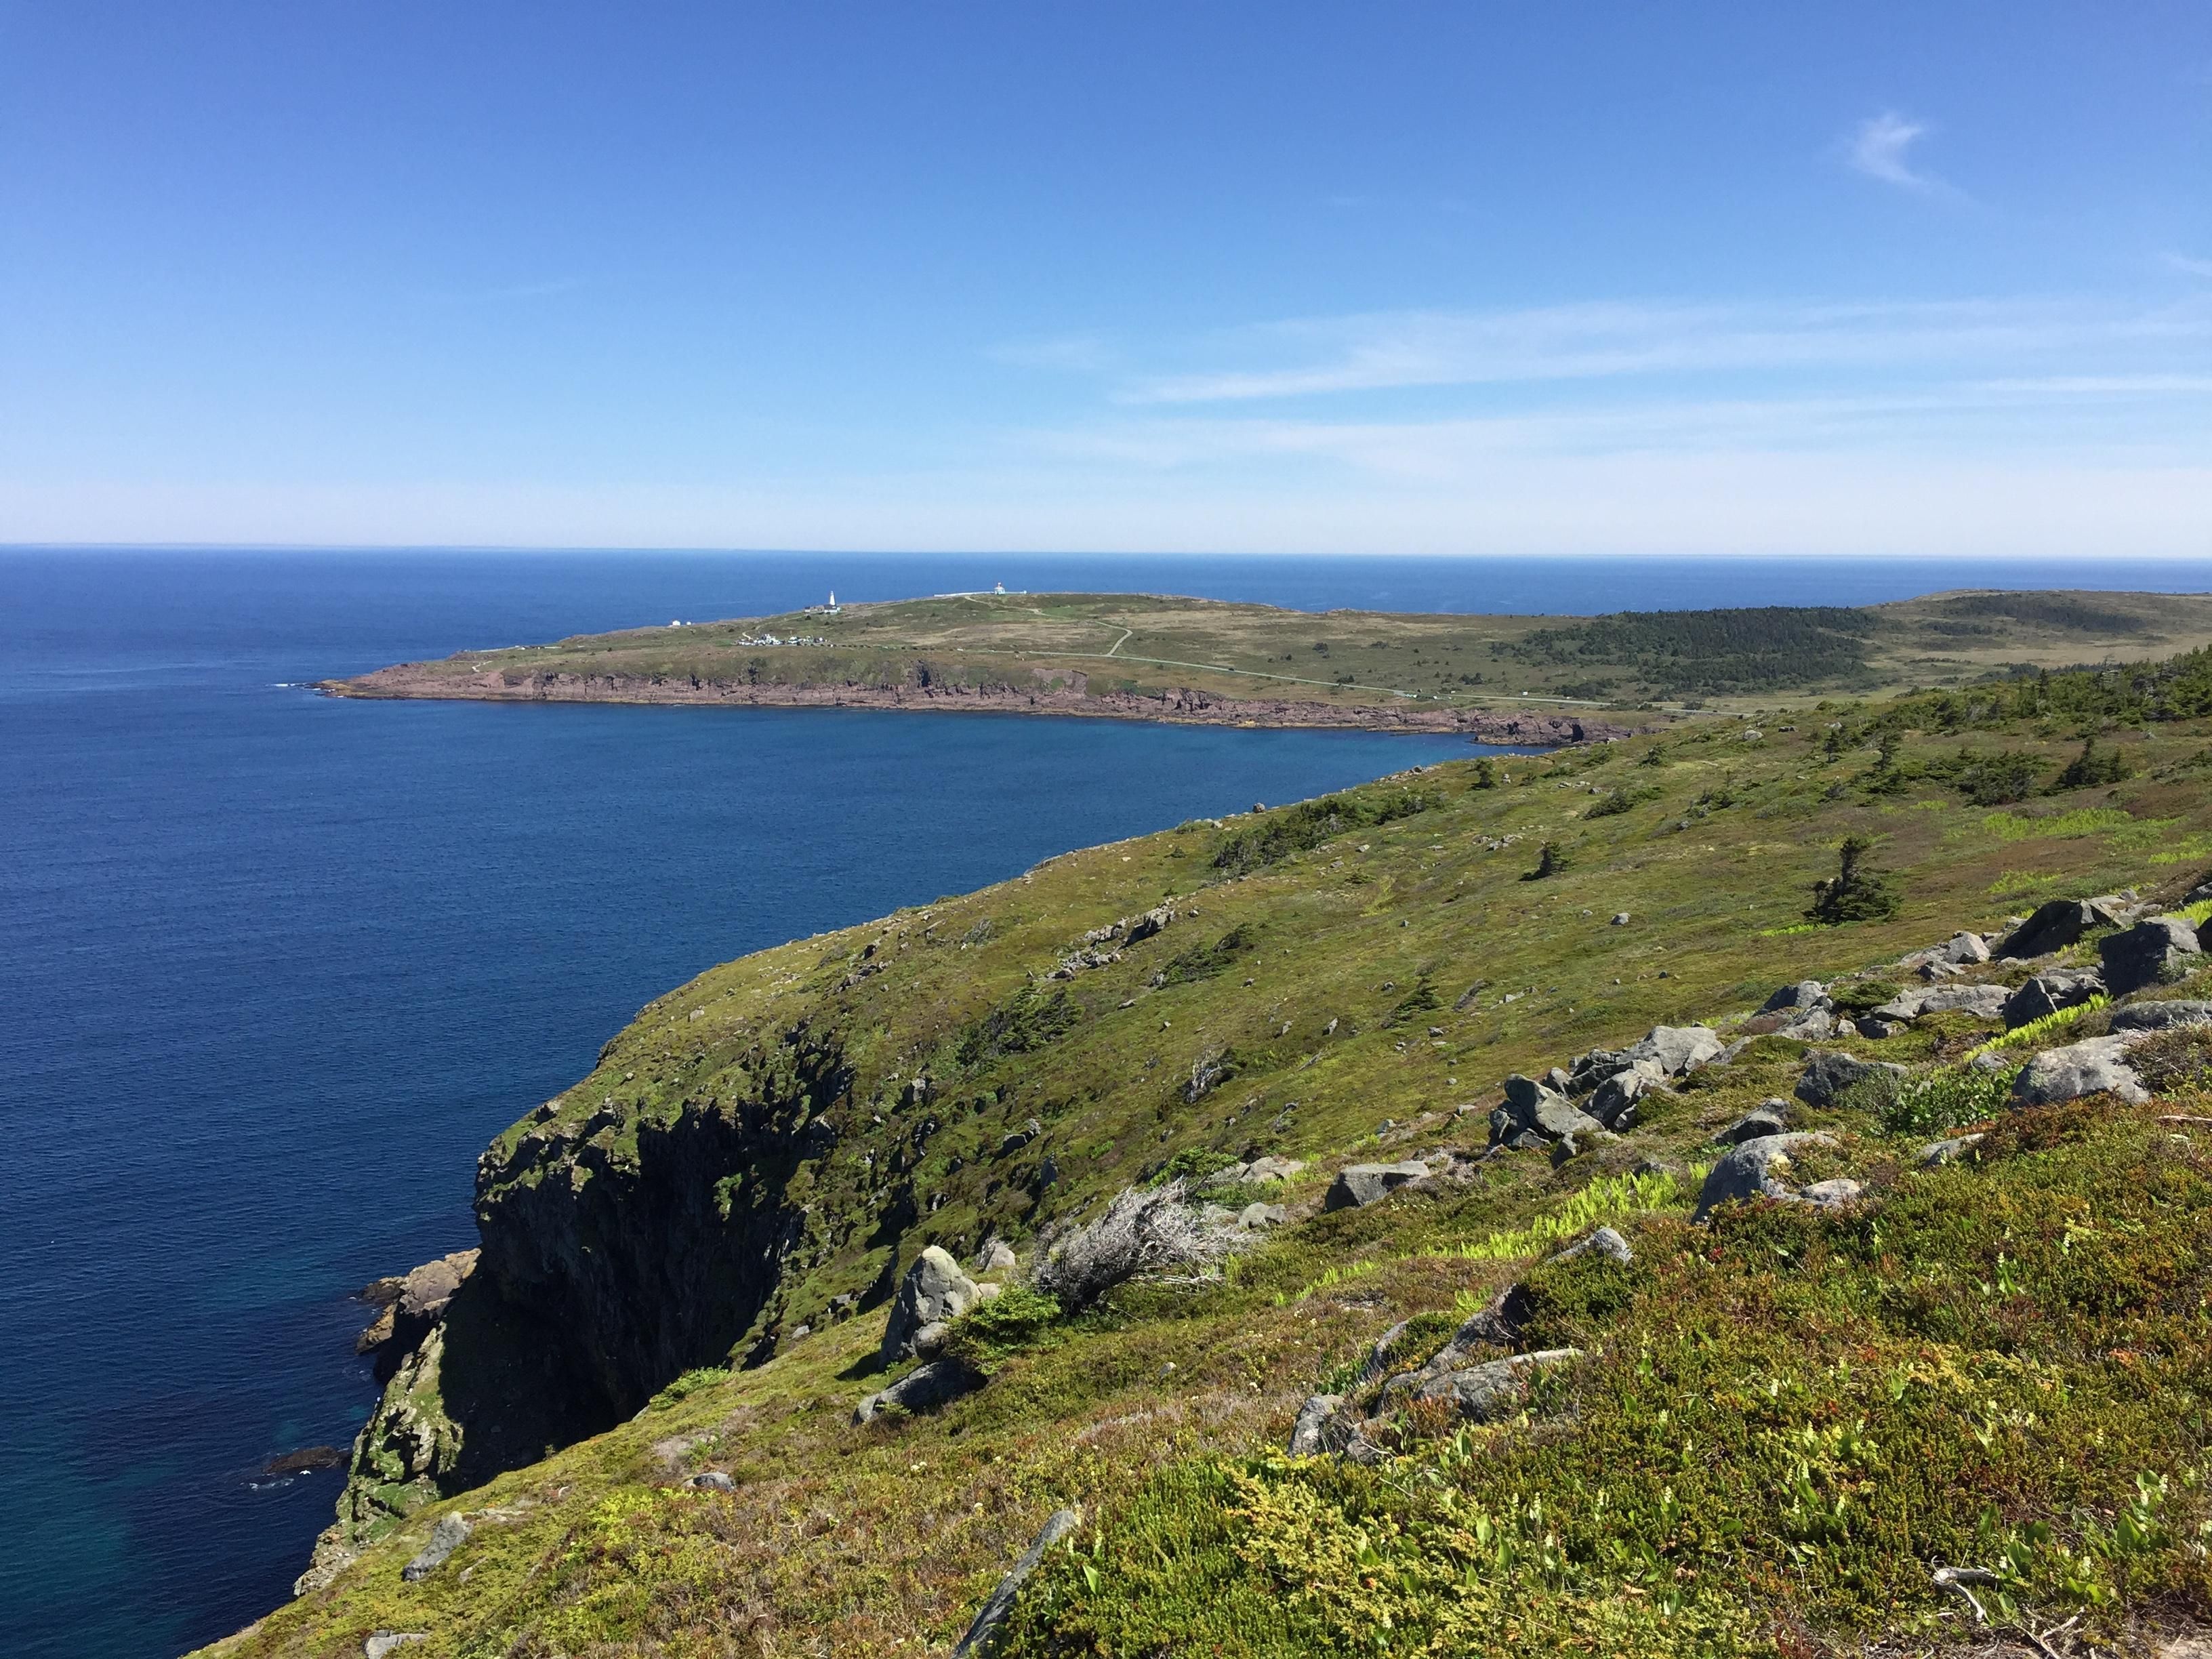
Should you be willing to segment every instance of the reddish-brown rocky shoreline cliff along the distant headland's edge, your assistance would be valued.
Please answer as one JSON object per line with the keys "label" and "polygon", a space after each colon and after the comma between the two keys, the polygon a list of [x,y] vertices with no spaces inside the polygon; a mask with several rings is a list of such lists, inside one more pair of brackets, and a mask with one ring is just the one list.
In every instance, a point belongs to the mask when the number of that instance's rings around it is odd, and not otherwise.
{"label": "reddish-brown rocky shoreline cliff along the distant headland's edge", "polygon": [[655,675],[456,675],[425,664],[378,668],[358,679],[325,679],[330,697],[405,697],[489,703],[684,703],[703,708],[891,708],[927,714],[1075,714],[1177,726],[1254,726],[1360,732],[1462,732],[1478,743],[1588,743],[1630,737],[1626,726],[1535,710],[1491,712],[1407,699],[1323,703],[1287,697],[1217,697],[1203,690],[1091,690],[1062,686],[781,684]]}

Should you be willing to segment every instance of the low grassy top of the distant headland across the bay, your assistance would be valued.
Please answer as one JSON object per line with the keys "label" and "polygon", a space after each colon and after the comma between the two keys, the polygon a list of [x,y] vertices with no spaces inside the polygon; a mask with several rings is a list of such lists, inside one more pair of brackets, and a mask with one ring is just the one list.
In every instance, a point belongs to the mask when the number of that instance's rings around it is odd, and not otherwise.
{"label": "low grassy top of the distant headland across the bay", "polygon": [[325,688],[1285,726],[1480,728],[1480,717],[1511,710],[1619,728],[1644,723],[1650,708],[1869,697],[2205,644],[2208,595],[1944,593],[1867,608],[1482,617],[1009,593],[465,650]]}

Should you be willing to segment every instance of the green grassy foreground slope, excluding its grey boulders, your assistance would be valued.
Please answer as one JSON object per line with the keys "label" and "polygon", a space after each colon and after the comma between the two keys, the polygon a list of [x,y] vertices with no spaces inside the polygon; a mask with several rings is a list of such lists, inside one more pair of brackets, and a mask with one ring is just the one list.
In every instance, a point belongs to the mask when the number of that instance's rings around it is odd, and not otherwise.
{"label": "green grassy foreground slope, excluding its grey boulders", "polygon": [[[1812,1655],[2057,1626],[2055,1650],[2112,1652],[2212,1617],[2212,1097],[2185,1044],[2150,1106],[2024,1113],[2008,1073],[1962,1066],[1991,1022],[1823,1044],[1931,1079],[1801,1117],[1834,1146],[1798,1177],[1865,1188],[1836,1212],[1690,1221],[1712,1133],[1803,1066],[1776,1035],[1619,1141],[1480,1157],[1511,1071],[1655,1022],[1732,1035],[1801,978],[1880,1000],[1900,953],[2042,898],[2174,902],[2212,865],[2203,675],[1429,768],[712,969],[487,1152],[480,1210],[626,1192],[675,1126],[774,1106],[781,1161],[695,1175],[730,1239],[752,1237],[748,1206],[796,1217],[779,1274],[743,1321],[681,1325],[690,1349],[653,1325],[639,1354],[661,1358],[619,1376],[657,1391],[622,1398],[628,1420],[394,1502],[358,1559],[208,1652],[358,1655],[380,1630],[420,1635],[403,1652],[422,1659],[942,1652],[1064,1504],[1084,1526],[1004,1652]],[[1847,836],[1898,909],[1816,927]],[[1086,938],[1161,907],[1148,938]],[[1971,1121],[1975,1157],[1918,1164]],[[1318,1212],[1336,1164],[1431,1150],[1460,1150],[1464,1179]],[[1062,1316],[1009,1294],[958,1336],[980,1391],[852,1425],[887,1380],[880,1296],[927,1243],[967,1259],[998,1234],[1026,1267],[1124,1186],[1259,1152],[1307,1168],[1219,1194],[1287,1208],[1230,1272]],[[1544,1261],[1599,1221],[1632,1239],[1628,1267]],[[697,1225],[646,1214],[635,1248],[692,1250]],[[675,1261],[668,1298],[692,1283]],[[1374,1398],[1380,1334],[1402,1325],[1391,1363],[1416,1365],[1511,1283],[1528,1347],[1579,1349],[1526,1411],[1387,1416],[1376,1467],[1281,1455],[1307,1394]],[[690,1484],[708,1471],[728,1489]],[[442,1515],[467,1542],[403,1579]],[[1989,1626],[1936,1566],[1991,1575],[1969,1586]]]}

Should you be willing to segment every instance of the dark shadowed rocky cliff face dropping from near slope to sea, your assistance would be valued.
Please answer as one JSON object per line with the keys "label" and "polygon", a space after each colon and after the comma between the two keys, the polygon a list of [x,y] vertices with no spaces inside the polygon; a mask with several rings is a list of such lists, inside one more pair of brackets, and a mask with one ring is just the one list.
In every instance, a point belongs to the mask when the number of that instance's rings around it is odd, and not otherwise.
{"label": "dark shadowed rocky cliff face dropping from near slope to sea", "polygon": [[385,1394],[299,1593],[425,1502],[619,1422],[748,1338],[772,1347],[790,1267],[872,1219],[803,1197],[852,1075],[836,1042],[799,1029],[726,1077],[743,1088],[672,1113],[608,1097],[562,1121],[549,1102],[484,1152],[482,1250],[387,1281],[365,1334]]}

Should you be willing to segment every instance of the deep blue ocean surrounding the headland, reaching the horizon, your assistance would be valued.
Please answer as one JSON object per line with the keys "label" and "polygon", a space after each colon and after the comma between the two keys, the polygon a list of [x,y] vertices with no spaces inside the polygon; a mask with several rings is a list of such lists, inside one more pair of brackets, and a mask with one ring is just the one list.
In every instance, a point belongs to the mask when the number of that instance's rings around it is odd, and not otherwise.
{"label": "deep blue ocean surrounding the headland, reaching the horizon", "polygon": [[276,1606],[374,1387],[367,1279],[699,969],[1455,739],[860,710],[358,703],[462,648],[978,588],[1301,608],[2212,591],[2192,564],[0,549],[0,1646]]}

